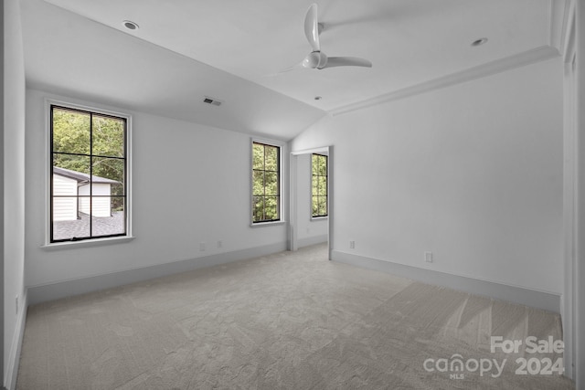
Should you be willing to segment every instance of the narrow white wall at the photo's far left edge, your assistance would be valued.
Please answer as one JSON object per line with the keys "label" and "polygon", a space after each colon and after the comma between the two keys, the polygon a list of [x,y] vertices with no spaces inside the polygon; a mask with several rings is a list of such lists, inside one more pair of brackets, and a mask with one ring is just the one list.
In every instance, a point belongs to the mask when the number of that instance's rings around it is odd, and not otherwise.
{"label": "narrow white wall at the photo's far left edge", "polygon": [[[25,66],[17,0],[4,6],[4,385],[15,385],[25,263]],[[19,307],[16,308],[16,297]]]}

